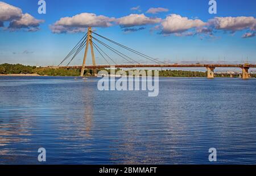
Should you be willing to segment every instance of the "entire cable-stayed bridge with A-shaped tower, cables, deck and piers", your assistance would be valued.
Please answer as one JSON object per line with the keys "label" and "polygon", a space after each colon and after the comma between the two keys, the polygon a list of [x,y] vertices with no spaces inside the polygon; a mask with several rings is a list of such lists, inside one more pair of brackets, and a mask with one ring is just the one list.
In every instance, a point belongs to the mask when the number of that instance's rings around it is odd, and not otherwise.
{"label": "entire cable-stayed bridge with A-shaped tower, cables, deck and piers", "polygon": [[[96,37],[92,36],[92,34],[95,34],[98,37],[101,37],[102,39],[105,39],[109,41],[112,44],[117,45],[118,47],[124,48],[129,52],[132,52],[140,57],[146,58],[147,60],[151,62],[155,62],[155,64],[140,64],[138,61],[134,60],[133,58],[123,54],[122,52],[119,52],[117,49],[114,49],[110,45],[104,43],[103,41],[97,39]],[[94,40],[93,40],[94,39]],[[122,57],[124,60],[131,64],[117,64],[113,58],[111,58],[106,52],[104,52],[99,45],[97,45],[94,41],[97,41],[97,44],[100,44],[101,46],[109,49],[113,53],[117,54],[119,57]],[[90,46],[91,56],[92,56],[92,64],[93,65],[85,65],[86,58],[88,55],[88,49]],[[82,61],[81,66],[69,66],[73,59],[78,55],[78,53],[82,50],[82,48],[85,47],[85,53],[84,53],[84,59]],[[95,56],[94,56],[94,48],[97,50],[98,53],[104,58],[106,63],[108,65],[96,65]],[[72,56],[72,57],[71,57]],[[71,58],[71,60],[68,62],[66,66],[61,66],[64,61]],[[114,64],[110,64],[110,62],[113,62]],[[165,62],[159,61],[156,58],[152,58],[150,56],[144,55],[141,52],[135,51],[134,49],[131,49],[129,47],[126,47],[125,45],[122,45],[120,43],[117,43],[111,39],[108,39],[107,37],[104,37],[96,32],[92,31],[91,27],[88,27],[88,32],[82,39],[79,41],[79,43],[76,44],[76,46],[72,49],[71,52],[64,58],[63,61],[60,62],[58,66],[48,66],[51,68],[64,68],[64,69],[81,69],[80,76],[84,76],[84,70],[85,69],[93,69],[93,73],[96,74],[96,69],[101,68],[206,68],[207,69],[207,78],[214,78],[214,69],[215,68],[241,68],[242,69],[242,79],[248,79],[249,78],[249,68],[256,68],[256,65],[253,64],[166,64]]]}

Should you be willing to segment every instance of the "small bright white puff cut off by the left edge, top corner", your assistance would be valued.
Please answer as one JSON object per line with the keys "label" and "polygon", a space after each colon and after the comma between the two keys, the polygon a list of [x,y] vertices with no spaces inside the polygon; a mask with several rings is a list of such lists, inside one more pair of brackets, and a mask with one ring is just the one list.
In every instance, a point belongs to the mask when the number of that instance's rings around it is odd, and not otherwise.
{"label": "small bright white puff cut off by the left edge, top corner", "polygon": [[0,21],[10,21],[22,17],[22,10],[5,2],[0,2]]}

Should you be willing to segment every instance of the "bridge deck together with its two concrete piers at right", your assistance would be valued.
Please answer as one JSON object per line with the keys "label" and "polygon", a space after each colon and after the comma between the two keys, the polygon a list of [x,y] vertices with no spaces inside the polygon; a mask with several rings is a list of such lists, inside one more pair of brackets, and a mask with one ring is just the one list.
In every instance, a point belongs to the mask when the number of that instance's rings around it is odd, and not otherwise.
{"label": "bridge deck together with its two concrete piers at right", "polygon": [[[82,66],[48,66],[48,68],[81,69]],[[256,68],[255,64],[138,64],[138,65],[85,65],[85,69],[101,68],[207,68],[207,78],[214,78],[215,68],[241,68],[242,78],[249,78],[249,68]]]}

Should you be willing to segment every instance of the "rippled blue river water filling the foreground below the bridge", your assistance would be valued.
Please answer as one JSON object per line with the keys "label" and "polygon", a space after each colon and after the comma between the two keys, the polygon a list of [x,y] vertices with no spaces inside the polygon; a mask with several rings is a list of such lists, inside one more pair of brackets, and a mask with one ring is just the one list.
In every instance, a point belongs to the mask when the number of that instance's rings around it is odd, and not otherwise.
{"label": "rippled blue river water filling the foreground below the bridge", "polygon": [[98,91],[98,78],[0,77],[0,164],[256,164],[256,80],[160,78]]}

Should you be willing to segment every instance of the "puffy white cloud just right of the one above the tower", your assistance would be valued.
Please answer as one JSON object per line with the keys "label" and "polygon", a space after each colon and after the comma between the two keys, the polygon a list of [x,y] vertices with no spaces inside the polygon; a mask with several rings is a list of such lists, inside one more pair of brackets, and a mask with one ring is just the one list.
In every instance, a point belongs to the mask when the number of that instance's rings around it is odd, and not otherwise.
{"label": "puffy white cloud just right of the one above the tower", "polygon": [[121,27],[133,27],[133,26],[143,26],[146,24],[156,24],[160,23],[162,19],[160,18],[149,18],[144,14],[130,14],[128,16],[123,16],[118,18],[117,24]]}

